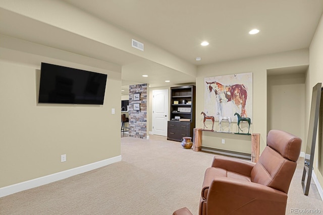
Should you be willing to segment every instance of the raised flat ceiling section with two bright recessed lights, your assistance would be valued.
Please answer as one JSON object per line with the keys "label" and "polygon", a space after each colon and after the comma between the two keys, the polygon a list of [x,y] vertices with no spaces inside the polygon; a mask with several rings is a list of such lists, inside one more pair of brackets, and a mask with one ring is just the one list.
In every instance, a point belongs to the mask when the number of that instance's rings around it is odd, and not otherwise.
{"label": "raised flat ceiling section with two bright recessed lights", "polygon": [[195,65],[308,48],[323,12],[322,0],[65,2]]}

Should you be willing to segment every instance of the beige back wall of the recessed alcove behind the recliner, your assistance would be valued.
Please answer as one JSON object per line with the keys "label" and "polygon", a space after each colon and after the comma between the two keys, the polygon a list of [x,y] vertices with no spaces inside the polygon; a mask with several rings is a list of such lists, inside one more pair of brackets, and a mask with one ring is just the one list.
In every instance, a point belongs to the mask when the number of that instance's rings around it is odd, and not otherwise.
{"label": "beige back wall of the recessed alcove behind the recliner", "polygon": [[[285,130],[305,140],[305,74],[268,76],[267,132]],[[303,144],[302,152],[305,152]]]}

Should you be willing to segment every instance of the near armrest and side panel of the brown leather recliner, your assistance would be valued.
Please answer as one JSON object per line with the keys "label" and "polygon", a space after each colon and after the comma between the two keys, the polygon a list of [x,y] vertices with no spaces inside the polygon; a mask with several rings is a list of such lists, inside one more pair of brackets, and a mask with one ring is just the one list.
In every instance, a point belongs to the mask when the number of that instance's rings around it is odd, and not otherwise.
{"label": "near armrest and side panel of the brown leather recliner", "polygon": [[206,202],[207,211],[223,214],[285,214],[287,194],[253,182],[217,177]]}

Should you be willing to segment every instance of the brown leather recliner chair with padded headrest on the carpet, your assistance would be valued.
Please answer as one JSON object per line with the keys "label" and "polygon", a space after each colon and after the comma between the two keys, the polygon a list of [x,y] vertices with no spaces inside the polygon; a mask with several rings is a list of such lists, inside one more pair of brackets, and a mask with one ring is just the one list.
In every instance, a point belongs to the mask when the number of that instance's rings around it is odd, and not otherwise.
{"label": "brown leather recliner chair with padded headrest on the carpet", "polygon": [[[204,175],[199,214],[285,214],[302,140],[271,130],[259,161],[214,156]],[[191,214],[186,208],[174,215]]]}

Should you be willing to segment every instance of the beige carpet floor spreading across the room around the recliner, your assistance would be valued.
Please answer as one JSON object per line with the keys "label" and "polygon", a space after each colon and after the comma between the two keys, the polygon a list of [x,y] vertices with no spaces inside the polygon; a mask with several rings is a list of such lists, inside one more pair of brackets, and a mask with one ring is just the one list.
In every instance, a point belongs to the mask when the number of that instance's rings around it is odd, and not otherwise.
{"label": "beige carpet floor spreading across the room around the recliner", "polygon": [[[0,214],[172,214],[188,207],[198,214],[204,171],[214,154],[183,149],[164,136],[121,138],[122,161],[0,198]],[[315,184],[302,191],[304,159],[294,174],[286,214],[319,209]],[[298,212],[298,214],[301,214]],[[310,214],[310,213],[306,213]]]}

